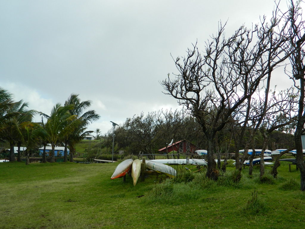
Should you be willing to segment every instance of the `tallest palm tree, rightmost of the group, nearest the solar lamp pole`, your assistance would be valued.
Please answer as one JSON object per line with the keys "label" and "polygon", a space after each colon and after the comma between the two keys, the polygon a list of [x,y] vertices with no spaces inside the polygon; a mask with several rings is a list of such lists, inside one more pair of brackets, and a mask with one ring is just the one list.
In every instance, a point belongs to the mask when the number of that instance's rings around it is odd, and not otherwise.
{"label": "tallest palm tree, rightmost of the group, nearest the solar lamp pole", "polygon": [[70,127],[73,130],[67,131],[64,136],[65,152],[64,152],[64,162],[67,161],[67,145],[70,147],[70,162],[73,162],[73,154],[75,153],[75,144],[81,141],[81,137],[85,136],[93,131],[86,131],[87,126],[98,120],[100,116],[95,113],[94,110],[85,111],[91,106],[92,101],[86,100],[81,101],[78,98],[78,94],[72,93],[70,97],[66,100],[65,106],[71,106],[69,110],[71,115],[75,115],[77,118],[71,123]]}

